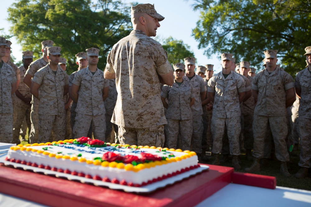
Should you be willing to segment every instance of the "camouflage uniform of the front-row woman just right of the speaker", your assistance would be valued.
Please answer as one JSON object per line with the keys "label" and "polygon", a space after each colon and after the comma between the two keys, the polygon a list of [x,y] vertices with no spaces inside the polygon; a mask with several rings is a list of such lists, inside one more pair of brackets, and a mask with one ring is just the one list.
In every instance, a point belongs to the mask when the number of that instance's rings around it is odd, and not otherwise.
{"label": "camouflage uniform of the front-row woman just right of the speaker", "polygon": [[176,149],[177,137],[180,133],[181,149],[190,150],[193,128],[190,98],[195,98],[192,85],[183,81],[179,86],[174,80],[172,86],[163,86],[161,97],[168,100],[165,114],[167,125],[164,127],[166,146]]}

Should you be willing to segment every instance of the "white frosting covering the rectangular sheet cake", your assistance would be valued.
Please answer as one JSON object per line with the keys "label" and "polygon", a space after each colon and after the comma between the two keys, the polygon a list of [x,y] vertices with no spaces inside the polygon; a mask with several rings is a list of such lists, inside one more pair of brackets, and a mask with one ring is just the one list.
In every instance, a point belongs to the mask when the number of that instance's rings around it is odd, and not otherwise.
{"label": "white frosting covering the rectangular sheet cake", "polygon": [[[69,147],[69,148],[65,148]],[[105,152],[112,151],[116,149],[115,147],[80,147],[76,145],[59,145],[59,146],[29,146],[32,149],[43,150],[43,148],[48,147],[47,150],[50,153],[60,154],[60,155],[69,155],[77,156],[81,154],[82,158],[86,160],[93,160],[96,157],[102,157]],[[140,157],[141,152],[150,153],[153,155],[158,155],[160,157],[167,156],[172,153],[175,157],[180,157],[182,155],[186,155],[184,152],[176,152],[176,151],[159,151],[157,149],[150,148],[142,148],[140,150],[133,149],[124,149],[119,148],[114,153],[119,153],[121,155],[135,155]],[[76,171],[77,173],[84,173],[91,175],[92,177],[97,175],[101,178],[107,177],[110,180],[116,178],[118,181],[125,180],[126,182],[132,182],[135,184],[142,184],[142,182],[148,182],[154,178],[161,177],[163,175],[167,175],[169,173],[176,172],[178,170],[184,169],[186,167],[194,166],[197,164],[197,156],[191,156],[187,159],[182,159],[177,162],[171,162],[162,165],[156,165],[155,167],[145,168],[139,170],[138,172],[134,172],[131,170],[124,170],[112,167],[102,167],[101,165],[87,164],[86,162],[79,162],[78,160],[72,161],[70,159],[56,159],[55,157],[49,157],[48,155],[44,155],[42,153],[26,151],[26,150],[9,150],[8,158],[15,160],[21,160],[31,163],[36,163],[37,165],[49,165],[51,168],[55,167],[57,169]],[[79,157],[78,157],[79,159]],[[93,160],[94,161],[94,160]],[[78,177],[77,177],[78,178]]]}

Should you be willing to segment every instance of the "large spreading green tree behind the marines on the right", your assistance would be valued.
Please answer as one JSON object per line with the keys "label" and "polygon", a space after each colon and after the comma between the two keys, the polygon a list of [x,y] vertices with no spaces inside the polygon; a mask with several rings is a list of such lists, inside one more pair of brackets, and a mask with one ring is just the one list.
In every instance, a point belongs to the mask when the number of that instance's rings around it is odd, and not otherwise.
{"label": "large spreading green tree behind the marines on the right", "polygon": [[262,68],[263,52],[294,75],[304,69],[304,48],[311,45],[311,2],[301,0],[196,0],[200,20],[193,29],[206,55],[231,52],[239,61]]}

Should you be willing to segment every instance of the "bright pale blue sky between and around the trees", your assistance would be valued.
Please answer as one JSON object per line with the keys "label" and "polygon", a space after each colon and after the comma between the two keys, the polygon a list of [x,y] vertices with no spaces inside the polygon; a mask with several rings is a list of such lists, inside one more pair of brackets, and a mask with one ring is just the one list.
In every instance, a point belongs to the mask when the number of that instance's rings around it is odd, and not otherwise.
{"label": "bright pale blue sky between and around the trees", "polygon": [[[131,3],[134,0],[122,0],[124,3]],[[174,39],[183,40],[185,44],[190,46],[193,51],[197,65],[214,65],[214,73],[221,71],[220,54],[215,54],[208,59],[204,55],[204,48],[198,49],[198,42],[192,36],[192,30],[196,27],[196,23],[200,18],[200,11],[193,11],[194,0],[136,0],[139,3],[150,3],[155,5],[156,11],[165,17],[160,21],[160,28],[157,29],[157,38],[166,39],[172,36]],[[7,21],[7,8],[12,5],[13,1],[2,1],[0,7],[0,28],[4,28],[4,34],[9,34],[9,29],[12,26]],[[129,11],[130,12],[130,11]],[[9,39],[12,42],[12,55],[16,58],[15,62],[22,60],[21,45],[18,44],[14,37]],[[65,50],[65,48],[62,48]],[[73,56],[75,54],[72,54]]]}

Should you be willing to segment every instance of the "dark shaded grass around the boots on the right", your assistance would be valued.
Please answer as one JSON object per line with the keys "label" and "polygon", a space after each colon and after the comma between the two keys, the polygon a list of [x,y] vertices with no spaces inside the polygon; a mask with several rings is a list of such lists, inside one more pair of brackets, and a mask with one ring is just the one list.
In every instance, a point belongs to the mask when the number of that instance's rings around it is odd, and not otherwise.
{"label": "dark shaded grass around the boots on the right", "polygon": [[[276,177],[276,185],[277,186],[282,186],[282,187],[290,187],[290,188],[297,188],[297,189],[303,189],[303,190],[308,190],[311,191],[311,172],[309,170],[308,177],[306,178],[295,178],[294,174],[298,172],[300,167],[298,166],[299,162],[299,150],[294,151],[294,153],[297,156],[291,156],[290,157],[290,162],[287,163],[287,168],[289,173],[291,174],[290,177],[284,177],[280,173],[280,167],[281,167],[281,162],[274,159],[274,160],[269,160],[269,164],[267,167],[262,167],[261,171],[256,172],[255,174],[260,174],[260,175],[268,175],[268,176],[273,176]],[[222,156],[220,156],[220,159]],[[209,162],[202,162],[205,164],[211,164],[213,160],[213,156],[210,157]],[[247,167],[250,167],[253,163],[253,161],[248,161],[246,160],[245,153],[240,155],[240,161],[242,162],[241,165],[241,170],[236,170],[237,172],[242,172],[245,173],[244,169]],[[231,160],[221,164],[221,166],[228,166],[232,167]]]}

